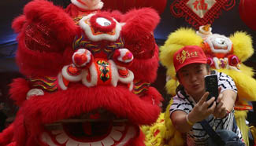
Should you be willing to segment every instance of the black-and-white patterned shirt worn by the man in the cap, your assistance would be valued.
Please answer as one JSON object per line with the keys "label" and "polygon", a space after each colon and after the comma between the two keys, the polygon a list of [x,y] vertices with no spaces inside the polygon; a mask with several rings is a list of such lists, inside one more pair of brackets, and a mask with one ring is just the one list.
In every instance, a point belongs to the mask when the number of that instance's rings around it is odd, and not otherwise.
{"label": "black-and-white patterned shirt worn by the man in the cap", "polygon": [[[226,89],[232,89],[237,93],[235,82],[232,78],[224,73],[215,71],[218,78],[218,86],[221,86],[221,93]],[[169,111],[172,115],[173,111],[185,111],[187,114],[191,112],[192,108],[195,106],[195,100],[188,96],[184,95],[184,92],[178,92],[178,94],[173,97],[173,104],[171,105]],[[210,126],[213,127],[213,130],[232,130],[234,131],[240,139],[242,139],[241,132],[237,127],[234,130],[233,127],[234,119],[234,110],[232,110],[226,117],[223,119],[215,119],[213,115],[210,115],[206,121],[209,122]],[[187,133],[187,145],[206,145],[206,140],[209,138],[205,130],[202,129],[202,126],[199,122],[195,123],[192,129]]]}

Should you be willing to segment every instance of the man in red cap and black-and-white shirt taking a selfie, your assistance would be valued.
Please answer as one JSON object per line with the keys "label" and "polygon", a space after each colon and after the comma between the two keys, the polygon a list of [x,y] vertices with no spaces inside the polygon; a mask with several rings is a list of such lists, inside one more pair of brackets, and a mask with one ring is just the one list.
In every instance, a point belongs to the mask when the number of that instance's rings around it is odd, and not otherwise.
{"label": "man in red cap and black-and-white shirt taking a selfie", "polygon": [[[209,135],[200,124],[206,120],[213,130],[232,130],[242,140],[234,124],[234,104],[237,89],[232,78],[224,73],[210,71],[206,55],[199,46],[185,46],[174,53],[173,64],[180,86],[173,97],[170,118],[181,133],[186,133],[187,145],[208,145]],[[206,75],[217,74],[219,96],[206,100]],[[234,128],[235,127],[235,128]]]}

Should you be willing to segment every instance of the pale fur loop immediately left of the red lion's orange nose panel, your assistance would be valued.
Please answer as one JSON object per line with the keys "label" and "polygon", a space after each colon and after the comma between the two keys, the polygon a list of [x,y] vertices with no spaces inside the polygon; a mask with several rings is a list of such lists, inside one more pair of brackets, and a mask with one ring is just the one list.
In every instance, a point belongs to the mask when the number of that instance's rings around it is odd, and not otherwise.
{"label": "pale fur loop immediately left of the red lion's orange nose panel", "polygon": [[[91,74],[91,82],[87,81],[88,71],[90,71],[90,74]],[[83,85],[87,87],[96,86],[98,82],[98,73],[95,67],[95,63],[92,63],[91,67],[88,70],[83,70],[82,76],[83,76],[82,78]]]}

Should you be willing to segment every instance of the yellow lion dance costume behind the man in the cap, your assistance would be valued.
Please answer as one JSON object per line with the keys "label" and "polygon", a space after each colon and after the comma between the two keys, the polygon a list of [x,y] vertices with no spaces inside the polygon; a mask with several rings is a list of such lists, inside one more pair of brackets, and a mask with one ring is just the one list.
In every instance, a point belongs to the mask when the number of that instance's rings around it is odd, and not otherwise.
{"label": "yellow lion dance costume behind the man in the cap", "polygon": [[[250,35],[245,32],[236,32],[229,38],[211,32],[210,26],[202,26],[198,31],[190,28],[180,28],[169,35],[164,46],[161,46],[161,64],[167,68],[166,89],[171,95],[176,94],[179,85],[173,66],[173,54],[184,46],[202,46],[208,57],[208,64],[217,71],[231,76],[236,82],[238,100],[236,101],[235,116],[239,129],[243,133],[243,140],[249,145],[248,126],[246,125],[248,101],[256,100],[256,81],[254,71],[243,62],[252,56],[254,49]],[[169,106],[172,104],[172,100]],[[147,130],[147,145],[184,145],[181,134],[175,130],[170,117],[169,106],[158,122],[152,127],[144,126]]]}

